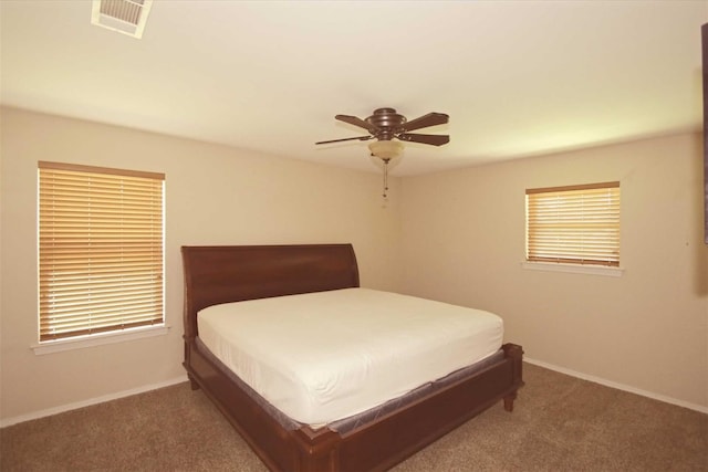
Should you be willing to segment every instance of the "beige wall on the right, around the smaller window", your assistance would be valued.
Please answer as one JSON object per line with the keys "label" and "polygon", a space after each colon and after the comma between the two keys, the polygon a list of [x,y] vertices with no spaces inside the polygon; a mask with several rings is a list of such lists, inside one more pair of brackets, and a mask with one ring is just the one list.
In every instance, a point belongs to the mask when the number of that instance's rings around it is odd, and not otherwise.
{"label": "beige wall on the right, around the smaller window", "polygon": [[[527,357],[708,411],[699,134],[402,183],[404,286],[486,308]],[[621,277],[522,269],[524,190],[621,181]]]}

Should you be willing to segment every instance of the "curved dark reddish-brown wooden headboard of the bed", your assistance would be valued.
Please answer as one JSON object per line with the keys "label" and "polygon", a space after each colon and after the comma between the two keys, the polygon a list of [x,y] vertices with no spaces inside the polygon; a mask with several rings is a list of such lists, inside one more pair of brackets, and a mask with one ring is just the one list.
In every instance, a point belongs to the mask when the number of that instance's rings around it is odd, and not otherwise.
{"label": "curved dark reddish-brown wooden headboard of the bed", "polygon": [[352,244],[184,245],[181,259],[185,338],[210,305],[358,286]]}

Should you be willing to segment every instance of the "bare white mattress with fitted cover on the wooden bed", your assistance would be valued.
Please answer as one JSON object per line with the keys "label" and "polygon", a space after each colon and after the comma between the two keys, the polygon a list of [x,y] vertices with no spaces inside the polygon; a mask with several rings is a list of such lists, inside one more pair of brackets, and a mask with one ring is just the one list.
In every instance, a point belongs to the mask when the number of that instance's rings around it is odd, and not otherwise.
{"label": "bare white mattress with fitted cover on the wooden bed", "polygon": [[312,427],[481,360],[503,336],[491,313],[368,289],[215,305],[197,322],[219,360]]}

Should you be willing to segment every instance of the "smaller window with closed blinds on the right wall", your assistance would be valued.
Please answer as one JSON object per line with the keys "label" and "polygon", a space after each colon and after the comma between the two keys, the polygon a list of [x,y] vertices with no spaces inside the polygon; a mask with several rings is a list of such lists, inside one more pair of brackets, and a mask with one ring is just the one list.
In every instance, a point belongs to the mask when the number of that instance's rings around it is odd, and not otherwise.
{"label": "smaller window with closed blinds on the right wall", "polygon": [[620,266],[620,182],[527,190],[527,261]]}

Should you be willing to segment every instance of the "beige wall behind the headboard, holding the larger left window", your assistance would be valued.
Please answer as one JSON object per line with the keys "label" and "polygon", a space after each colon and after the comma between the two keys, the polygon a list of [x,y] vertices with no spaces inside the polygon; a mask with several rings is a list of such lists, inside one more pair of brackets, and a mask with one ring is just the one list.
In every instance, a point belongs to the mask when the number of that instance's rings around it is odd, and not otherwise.
{"label": "beige wall behind the headboard, holding the larger left window", "polygon": [[[183,244],[352,242],[362,285],[397,290],[398,200],[381,176],[17,109],[1,115],[0,419],[174,381]],[[166,336],[37,356],[37,161],[166,174]],[[392,179],[392,197],[398,179]]]}

